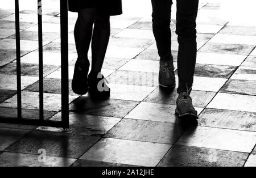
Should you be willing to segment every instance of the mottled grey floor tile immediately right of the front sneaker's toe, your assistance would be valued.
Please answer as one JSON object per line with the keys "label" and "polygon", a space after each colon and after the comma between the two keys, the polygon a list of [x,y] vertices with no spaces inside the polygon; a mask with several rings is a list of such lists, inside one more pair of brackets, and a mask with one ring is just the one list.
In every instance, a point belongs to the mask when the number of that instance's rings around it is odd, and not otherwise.
{"label": "mottled grey floor tile immediately right of the front sneaker's toe", "polygon": [[204,109],[200,115],[199,125],[255,132],[256,113],[222,109]]}

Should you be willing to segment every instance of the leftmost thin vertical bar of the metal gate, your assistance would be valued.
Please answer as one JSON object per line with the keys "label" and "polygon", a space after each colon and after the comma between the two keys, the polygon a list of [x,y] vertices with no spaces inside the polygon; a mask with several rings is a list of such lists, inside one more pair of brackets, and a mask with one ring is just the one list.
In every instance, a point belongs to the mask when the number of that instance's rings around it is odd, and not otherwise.
{"label": "leftmost thin vertical bar of the metal gate", "polygon": [[21,67],[20,67],[20,33],[19,33],[19,1],[15,0],[15,34],[16,34],[16,77],[17,77],[17,116],[22,118]]}

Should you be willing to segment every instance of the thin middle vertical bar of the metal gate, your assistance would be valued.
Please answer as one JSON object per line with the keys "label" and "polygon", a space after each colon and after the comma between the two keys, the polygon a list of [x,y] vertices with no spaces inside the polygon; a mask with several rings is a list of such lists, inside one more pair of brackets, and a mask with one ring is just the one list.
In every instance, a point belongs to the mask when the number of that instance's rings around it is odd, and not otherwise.
{"label": "thin middle vertical bar of the metal gate", "polygon": [[38,0],[39,119],[44,120],[42,1]]}

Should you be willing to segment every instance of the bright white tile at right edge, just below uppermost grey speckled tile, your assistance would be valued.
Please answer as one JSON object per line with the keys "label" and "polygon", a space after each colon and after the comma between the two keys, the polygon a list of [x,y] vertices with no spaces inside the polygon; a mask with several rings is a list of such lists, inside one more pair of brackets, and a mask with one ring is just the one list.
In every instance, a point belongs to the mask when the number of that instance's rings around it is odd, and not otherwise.
{"label": "bright white tile at right edge, just below uppermost grey speckled tile", "polygon": [[256,36],[217,34],[210,39],[209,43],[256,45]]}

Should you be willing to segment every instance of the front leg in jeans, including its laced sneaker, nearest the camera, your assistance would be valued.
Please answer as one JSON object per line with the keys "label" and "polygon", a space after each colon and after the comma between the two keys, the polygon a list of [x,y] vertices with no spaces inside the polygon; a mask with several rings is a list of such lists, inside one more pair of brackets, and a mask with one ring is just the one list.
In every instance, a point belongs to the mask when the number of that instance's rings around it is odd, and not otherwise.
{"label": "front leg in jeans, including its laced sneaker, nearest the camera", "polygon": [[198,118],[189,96],[192,90],[193,75],[196,65],[196,17],[198,0],[177,0],[176,34],[178,35],[179,52],[177,70],[179,87],[177,92],[176,113],[180,117],[190,116]]}

